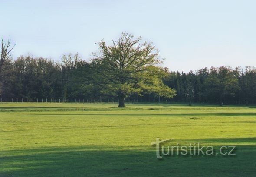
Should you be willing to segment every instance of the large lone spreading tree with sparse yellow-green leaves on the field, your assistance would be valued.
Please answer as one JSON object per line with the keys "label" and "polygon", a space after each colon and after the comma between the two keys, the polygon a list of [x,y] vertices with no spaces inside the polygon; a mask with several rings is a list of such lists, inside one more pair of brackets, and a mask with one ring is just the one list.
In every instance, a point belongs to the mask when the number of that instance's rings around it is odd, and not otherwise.
{"label": "large lone spreading tree with sparse yellow-green leaves on the field", "polygon": [[151,67],[161,63],[152,42],[142,42],[141,37],[122,33],[117,41],[112,40],[112,45],[103,40],[97,44],[99,52],[93,53],[92,60],[93,80],[105,94],[118,96],[118,107],[125,107],[125,97],[135,93],[159,92],[169,98],[175,95],[156,74],[159,70]]}

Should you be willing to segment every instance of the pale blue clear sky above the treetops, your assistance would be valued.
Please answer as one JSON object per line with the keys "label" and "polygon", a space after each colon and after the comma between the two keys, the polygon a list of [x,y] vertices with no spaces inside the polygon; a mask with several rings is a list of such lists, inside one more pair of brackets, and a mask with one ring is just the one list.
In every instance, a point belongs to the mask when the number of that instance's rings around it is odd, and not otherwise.
{"label": "pale blue clear sky above the treetops", "polygon": [[256,66],[255,0],[0,0],[0,38],[20,55],[89,60],[128,32],[153,41],[172,71]]}

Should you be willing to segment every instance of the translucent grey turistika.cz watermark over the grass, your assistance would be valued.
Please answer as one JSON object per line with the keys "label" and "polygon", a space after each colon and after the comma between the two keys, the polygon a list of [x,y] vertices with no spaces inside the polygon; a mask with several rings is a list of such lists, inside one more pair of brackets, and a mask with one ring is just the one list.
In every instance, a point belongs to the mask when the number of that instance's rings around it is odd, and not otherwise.
{"label": "translucent grey turistika.cz watermark over the grass", "polygon": [[174,155],[236,155],[236,146],[221,146],[219,151],[213,146],[200,146],[200,142],[190,143],[188,146],[177,145],[174,146],[164,146],[163,142],[170,141],[172,139],[160,140],[156,139],[155,142],[151,142],[151,145],[156,145],[156,156],[158,159],[162,159],[164,155],[174,156]]}

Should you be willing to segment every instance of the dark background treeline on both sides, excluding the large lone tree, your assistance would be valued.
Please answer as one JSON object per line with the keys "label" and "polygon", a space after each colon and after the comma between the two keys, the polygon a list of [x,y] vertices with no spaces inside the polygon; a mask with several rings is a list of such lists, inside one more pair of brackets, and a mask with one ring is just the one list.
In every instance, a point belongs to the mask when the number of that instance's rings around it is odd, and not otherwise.
{"label": "dark background treeline on both sides, excluding the large lone tree", "polygon": [[[30,56],[10,61],[1,79],[1,98],[64,99],[67,82],[67,99],[90,101],[114,101],[118,98],[104,95],[90,81],[93,70],[91,63],[80,60],[78,55],[63,56],[62,63]],[[231,69],[203,68],[195,72],[180,73],[162,69],[165,85],[176,90],[174,98],[160,101],[196,103],[256,103],[256,68]],[[131,101],[159,101],[155,93],[143,96],[131,95]]]}

